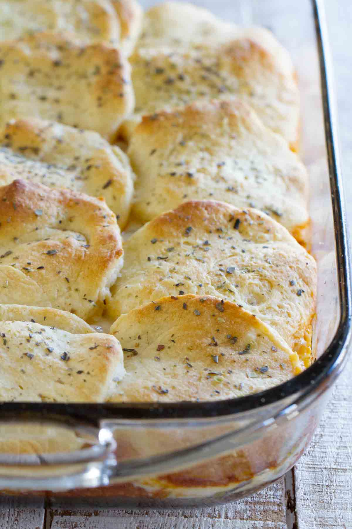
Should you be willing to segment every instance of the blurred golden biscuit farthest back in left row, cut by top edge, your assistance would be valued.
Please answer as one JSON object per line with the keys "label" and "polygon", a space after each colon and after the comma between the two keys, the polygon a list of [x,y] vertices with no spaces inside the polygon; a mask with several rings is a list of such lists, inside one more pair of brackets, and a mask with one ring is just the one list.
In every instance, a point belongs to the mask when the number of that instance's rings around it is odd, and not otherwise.
{"label": "blurred golden biscuit farthest back in left row, cut by top edge", "polygon": [[38,31],[69,31],[85,43],[109,42],[130,53],[142,9],[135,0],[1,0],[0,40]]}

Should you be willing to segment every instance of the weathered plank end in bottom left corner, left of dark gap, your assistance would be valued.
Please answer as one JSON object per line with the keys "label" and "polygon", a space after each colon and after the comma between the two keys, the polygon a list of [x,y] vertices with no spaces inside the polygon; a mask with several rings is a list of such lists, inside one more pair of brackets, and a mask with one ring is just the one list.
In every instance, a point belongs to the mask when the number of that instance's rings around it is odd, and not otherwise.
{"label": "weathered plank end in bottom left corner, left of dark gap", "polygon": [[0,497],[0,529],[42,529],[43,500]]}

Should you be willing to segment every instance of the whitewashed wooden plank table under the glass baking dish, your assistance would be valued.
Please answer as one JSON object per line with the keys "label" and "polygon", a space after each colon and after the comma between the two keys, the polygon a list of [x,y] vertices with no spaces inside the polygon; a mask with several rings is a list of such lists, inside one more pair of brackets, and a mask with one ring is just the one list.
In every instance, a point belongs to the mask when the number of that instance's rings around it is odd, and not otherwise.
{"label": "whitewashed wooden plank table under the glass baking dish", "polygon": [[[230,10],[234,0],[227,2]],[[210,0],[198,3],[206,6]],[[326,10],[352,226],[352,3],[326,0]],[[297,466],[250,498],[209,509],[69,512],[45,509],[41,501],[29,505],[14,499],[0,504],[0,529],[352,529],[351,378],[352,362],[338,380],[318,431]]]}

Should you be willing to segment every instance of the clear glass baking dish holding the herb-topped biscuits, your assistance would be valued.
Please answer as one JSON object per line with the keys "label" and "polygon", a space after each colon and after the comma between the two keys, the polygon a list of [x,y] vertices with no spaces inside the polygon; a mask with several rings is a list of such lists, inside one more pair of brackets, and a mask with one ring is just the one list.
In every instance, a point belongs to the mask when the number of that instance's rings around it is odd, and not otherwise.
{"label": "clear glass baking dish holding the herb-topped biscuits", "polygon": [[348,358],[349,243],[321,2],[195,3],[227,21],[267,26],[296,66],[301,155],[310,174],[310,250],[318,262],[317,360],[280,386],[215,403],[0,404],[1,428],[21,432],[33,423],[44,429],[59,424],[80,440],[73,452],[1,453],[4,493],[41,494],[75,507],[202,506],[250,495],[281,477],[305,451]]}

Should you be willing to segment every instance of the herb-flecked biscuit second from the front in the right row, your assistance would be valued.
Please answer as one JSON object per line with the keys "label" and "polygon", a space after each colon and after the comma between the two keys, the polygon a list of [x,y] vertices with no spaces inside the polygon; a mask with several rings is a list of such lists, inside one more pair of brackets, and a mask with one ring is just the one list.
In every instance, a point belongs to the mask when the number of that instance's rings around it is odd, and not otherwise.
{"label": "herb-flecked biscuit second from the front in the right row", "polygon": [[268,215],[186,202],[141,227],[123,249],[112,317],[163,296],[210,295],[255,314],[303,357],[310,351],[302,345],[315,311],[316,262]]}

